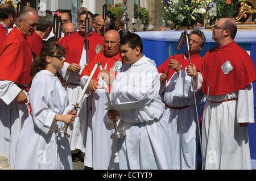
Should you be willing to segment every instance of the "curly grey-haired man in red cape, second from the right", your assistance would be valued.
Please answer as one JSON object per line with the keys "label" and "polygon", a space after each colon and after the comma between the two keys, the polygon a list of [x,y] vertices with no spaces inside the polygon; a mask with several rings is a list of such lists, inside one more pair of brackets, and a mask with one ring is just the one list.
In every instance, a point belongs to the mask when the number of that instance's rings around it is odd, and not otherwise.
{"label": "curly grey-haired man in red cape, second from the right", "polygon": [[[189,33],[191,62],[201,65],[199,55],[205,42],[204,33],[193,30]],[[197,167],[197,116],[195,100],[191,89],[191,77],[185,69],[189,65],[188,52],[168,58],[158,67],[163,102],[166,104],[164,116],[168,120],[171,138],[172,169],[193,169]],[[167,69],[168,77],[166,75]],[[200,74],[200,73],[199,73]],[[201,78],[201,74],[197,75]],[[197,104],[201,102],[202,92],[196,91]],[[187,151],[189,150],[189,151]]]}

